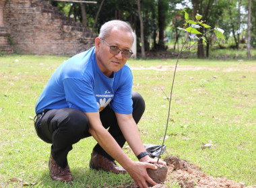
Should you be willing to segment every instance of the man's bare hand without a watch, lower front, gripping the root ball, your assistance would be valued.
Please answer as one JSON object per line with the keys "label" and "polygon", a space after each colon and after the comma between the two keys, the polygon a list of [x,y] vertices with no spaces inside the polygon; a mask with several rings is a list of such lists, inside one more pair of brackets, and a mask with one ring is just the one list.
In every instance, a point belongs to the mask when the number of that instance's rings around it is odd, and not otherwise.
{"label": "man's bare hand without a watch, lower front, gripping the root ball", "polygon": [[132,179],[135,181],[136,185],[140,188],[148,188],[148,183],[151,185],[157,185],[148,175],[147,169],[156,170],[157,167],[154,164],[148,162],[134,162],[134,165],[126,169]]}

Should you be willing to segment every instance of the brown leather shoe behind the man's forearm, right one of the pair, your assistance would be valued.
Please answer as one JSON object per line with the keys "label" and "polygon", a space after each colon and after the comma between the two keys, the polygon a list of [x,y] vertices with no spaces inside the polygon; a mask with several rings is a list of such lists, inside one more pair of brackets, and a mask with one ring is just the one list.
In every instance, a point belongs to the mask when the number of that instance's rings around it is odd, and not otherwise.
{"label": "brown leather shoe behind the man's forearm, right one of the pair", "polygon": [[90,169],[96,169],[96,170],[104,170],[108,172],[112,172],[115,174],[119,173],[127,173],[123,167],[117,166],[117,164],[113,160],[109,160],[108,158],[102,156],[101,154],[98,154],[94,150],[91,154],[91,160],[90,160]]}

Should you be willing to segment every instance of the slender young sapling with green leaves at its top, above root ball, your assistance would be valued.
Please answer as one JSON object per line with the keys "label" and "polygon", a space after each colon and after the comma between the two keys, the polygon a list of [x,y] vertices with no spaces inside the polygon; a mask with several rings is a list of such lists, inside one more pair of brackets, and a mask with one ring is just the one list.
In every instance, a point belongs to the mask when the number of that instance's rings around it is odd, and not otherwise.
{"label": "slender young sapling with green leaves at its top, above root ball", "polygon": [[[186,32],[187,33],[187,37],[186,37],[186,40],[183,42],[182,44],[182,47],[181,47],[181,50],[179,51],[179,54],[177,56],[177,61],[176,61],[176,64],[175,64],[175,68],[174,68],[174,74],[173,74],[173,79],[172,79],[172,87],[170,89],[170,98],[168,98],[167,96],[167,99],[168,99],[168,102],[169,102],[169,105],[168,105],[168,116],[167,116],[167,122],[166,122],[166,129],[165,129],[165,133],[164,133],[164,138],[163,138],[163,141],[162,141],[162,146],[161,146],[161,149],[160,149],[160,153],[158,155],[158,160],[157,160],[157,163],[159,162],[159,158],[160,158],[160,155],[162,154],[162,148],[164,146],[164,141],[165,141],[165,137],[166,137],[166,132],[167,132],[167,129],[168,129],[168,122],[169,122],[169,118],[170,118],[170,102],[172,101],[172,89],[173,89],[173,85],[174,85],[174,79],[175,79],[175,74],[176,74],[176,70],[177,70],[177,65],[178,65],[178,62],[179,62],[179,58],[181,56],[181,53],[182,52],[185,52],[186,50],[189,50],[190,48],[192,48],[193,46],[196,46],[196,45],[199,45],[197,44],[199,42],[199,40],[203,40],[203,43],[207,42],[205,36],[207,33],[209,32],[214,32],[216,34],[216,37],[217,38],[220,38],[222,40],[224,40],[224,30],[220,29],[220,28],[213,28],[207,32],[205,32],[205,34],[202,34],[201,32],[199,32],[197,29],[199,28],[205,28],[205,30],[209,29],[209,28],[212,28],[211,26],[208,26],[207,24],[205,24],[205,21],[201,20],[201,18],[203,17],[202,15],[199,15],[197,13],[197,15],[195,15],[195,20],[192,20],[192,19],[189,19],[189,14],[185,12],[185,28],[178,28],[179,30],[182,30],[183,32]],[[187,28],[186,28],[187,27]],[[195,36],[191,36],[191,34],[195,34]],[[197,36],[197,35],[201,35],[201,36]],[[188,48],[186,48],[185,50],[183,50],[186,42],[187,42],[187,39],[188,38],[191,38],[191,40],[193,40],[193,44],[191,44]]]}

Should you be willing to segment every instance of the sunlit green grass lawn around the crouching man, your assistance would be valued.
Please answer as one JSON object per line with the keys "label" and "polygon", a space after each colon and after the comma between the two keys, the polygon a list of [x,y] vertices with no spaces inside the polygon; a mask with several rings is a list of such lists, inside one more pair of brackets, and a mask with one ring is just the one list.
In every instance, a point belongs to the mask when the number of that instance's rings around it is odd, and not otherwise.
{"label": "sunlit green grass lawn around the crouching man", "polygon": [[[36,136],[32,118],[44,85],[64,60],[67,57],[0,58],[0,187],[22,187],[23,183],[36,183],[32,187],[122,187],[133,183],[129,175],[89,170],[96,144],[93,138],[81,140],[69,153],[73,185],[51,181],[47,166],[51,145]],[[142,68],[133,70],[133,91],[146,101],[139,122],[145,144],[162,144],[168,113],[164,93],[170,93],[175,62],[129,61],[131,67]],[[149,69],[158,65],[162,65],[160,71]],[[207,175],[255,185],[255,71],[255,60],[179,60],[163,157],[179,156]],[[203,150],[209,142],[214,147]],[[130,150],[125,152],[135,160]],[[14,177],[23,181],[10,181]],[[177,182],[168,186],[179,187]]]}

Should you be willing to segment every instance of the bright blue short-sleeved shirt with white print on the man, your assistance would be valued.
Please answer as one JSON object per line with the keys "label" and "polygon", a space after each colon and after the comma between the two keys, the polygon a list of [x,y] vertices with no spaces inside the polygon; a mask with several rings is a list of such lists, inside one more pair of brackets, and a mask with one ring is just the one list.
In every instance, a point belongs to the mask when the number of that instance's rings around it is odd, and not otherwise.
{"label": "bright blue short-sleeved shirt with white print on the man", "polygon": [[133,75],[127,64],[106,77],[96,62],[95,47],[63,62],[44,87],[36,114],[44,109],[71,107],[84,112],[101,111],[110,105],[117,113],[132,113]]}

